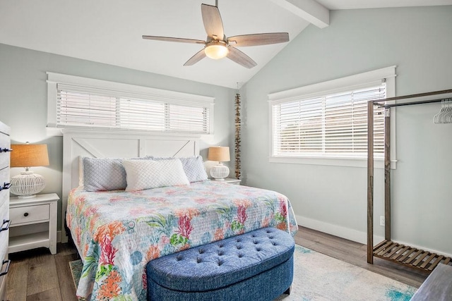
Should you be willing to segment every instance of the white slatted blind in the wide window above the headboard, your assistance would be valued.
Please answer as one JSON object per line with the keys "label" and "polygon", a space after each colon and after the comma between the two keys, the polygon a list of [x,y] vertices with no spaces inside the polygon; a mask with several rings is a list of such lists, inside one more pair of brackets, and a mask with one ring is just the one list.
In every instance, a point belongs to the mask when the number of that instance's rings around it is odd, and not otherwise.
{"label": "white slatted blind in the wide window above the headboard", "polygon": [[210,134],[210,102],[57,84],[56,126]]}

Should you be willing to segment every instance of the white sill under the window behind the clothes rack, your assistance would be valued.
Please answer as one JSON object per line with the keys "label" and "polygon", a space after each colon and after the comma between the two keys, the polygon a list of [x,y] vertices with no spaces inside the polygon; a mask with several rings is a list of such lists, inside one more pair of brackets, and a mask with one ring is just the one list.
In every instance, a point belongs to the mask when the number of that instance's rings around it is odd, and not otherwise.
{"label": "white sill under the window behind the clothes rack", "polygon": [[[270,156],[270,163],[283,164],[309,164],[309,165],[326,165],[326,166],[345,166],[367,168],[367,158],[350,158],[350,157],[324,157],[324,156]],[[384,160],[381,158],[374,159],[374,168],[384,168]],[[397,168],[397,160],[391,160],[391,169]]]}

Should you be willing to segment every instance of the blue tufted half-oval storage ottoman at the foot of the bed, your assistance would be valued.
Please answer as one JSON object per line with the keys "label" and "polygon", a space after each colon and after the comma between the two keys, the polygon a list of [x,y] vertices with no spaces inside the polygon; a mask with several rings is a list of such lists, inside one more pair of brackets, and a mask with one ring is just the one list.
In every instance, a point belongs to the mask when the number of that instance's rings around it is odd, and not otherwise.
{"label": "blue tufted half-oval storage ottoman at the foot of the bed", "polygon": [[273,300],[290,293],[294,247],[263,228],[151,260],[148,300]]}

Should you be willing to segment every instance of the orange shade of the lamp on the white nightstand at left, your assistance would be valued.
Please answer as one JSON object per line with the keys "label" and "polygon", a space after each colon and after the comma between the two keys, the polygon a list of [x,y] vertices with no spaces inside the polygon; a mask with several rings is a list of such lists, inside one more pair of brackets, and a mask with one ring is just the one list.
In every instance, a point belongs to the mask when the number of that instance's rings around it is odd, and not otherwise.
{"label": "orange shade of the lamp on the white nightstand at left", "polygon": [[11,167],[48,166],[47,145],[11,145]]}

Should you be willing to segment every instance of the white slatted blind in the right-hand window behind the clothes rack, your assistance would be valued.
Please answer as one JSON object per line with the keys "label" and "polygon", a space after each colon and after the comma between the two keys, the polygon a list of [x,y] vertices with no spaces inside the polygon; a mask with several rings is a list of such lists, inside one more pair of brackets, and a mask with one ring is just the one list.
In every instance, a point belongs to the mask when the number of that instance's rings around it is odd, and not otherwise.
{"label": "white slatted blind in the right-hand window behind the clothes rack", "polygon": [[[367,156],[367,102],[386,84],[272,105],[273,156]],[[374,152],[384,147],[383,109],[374,116]]]}

